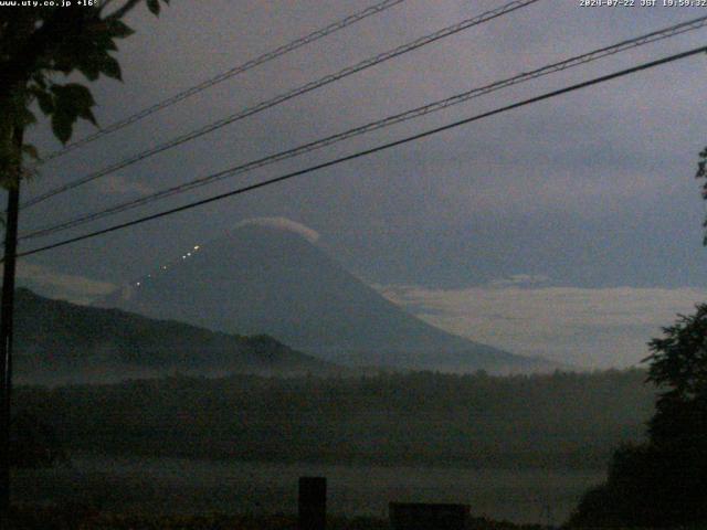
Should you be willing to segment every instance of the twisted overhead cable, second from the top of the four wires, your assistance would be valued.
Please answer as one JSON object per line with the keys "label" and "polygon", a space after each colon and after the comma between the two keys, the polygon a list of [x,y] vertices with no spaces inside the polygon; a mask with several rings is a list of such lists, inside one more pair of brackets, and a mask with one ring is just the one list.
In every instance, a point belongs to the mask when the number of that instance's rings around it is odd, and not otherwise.
{"label": "twisted overhead cable, second from the top of the four wires", "polygon": [[302,85],[297,88],[294,88],[289,92],[286,92],[284,94],[281,94],[278,96],[275,96],[272,99],[267,99],[264,102],[261,102],[252,107],[245,108],[243,110],[240,110],[231,116],[228,116],[225,118],[222,118],[218,121],[211,123],[209,125],[205,125],[204,127],[201,127],[199,129],[192,130],[191,132],[187,132],[182,136],[179,136],[177,138],[172,138],[171,140],[161,144],[159,146],[152,147],[150,149],[146,149],[137,155],[134,155],[130,158],[127,158],[125,160],[122,160],[119,162],[116,162],[112,166],[108,166],[104,169],[101,169],[94,173],[89,173],[85,177],[82,177],[77,180],[74,180],[72,182],[68,182],[64,186],[60,186],[53,190],[50,190],[45,193],[42,193],[33,199],[30,199],[29,201],[24,202],[23,204],[21,204],[21,209],[23,208],[29,208],[32,206],[34,204],[38,204],[42,201],[45,201],[46,199],[50,199],[54,195],[57,195],[60,193],[64,193],[68,190],[72,190],[74,188],[77,188],[80,186],[83,186],[87,182],[91,182],[93,180],[96,180],[101,177],[105,177],[107,174],[114,173],[115,171],[118,171],[119,169],[126,168],[128,166],[131,166],[136,162],[139,162],[140,160],[145,160],[146,158],[149,158],[154,155],[157,155],[159,152],[166,151],[168,149],[171,149],[173,147],[180,146],[187,141],[193,140],[196,138],[199,138],[203,135],[207,135],[209,132],[213,132],[214,130],[218,130],[222,127],[225,127],[226,125],[231,125],[234,121],[244,119],[249,116],[252,116],[254,114],[261,113],[263,110],[266,110],[268,108],[272,108],[276,105],[279,105],[282,103],[285,103],[289,99],[294,99],[295,97],[298,97],[303,94],[309,93],[312,91],[315,91],[317,88],[320,88],[325,85],[328,85],[330,83],[334,83],[336,81],[339,81],[344,77],[348,77],[349,75],[356,74],[358,72],[361,72],[363,70],[370,68],[371,66],[374,66],[377,64],[380,64],[384,61],[389,61],[393,57],[397,57],[399,55],[402,55],[404,53],[411,52],[413,50],[416,50],[419,47],[425,46],[428,44],[431,44],[435,41],[439,41],[441,39],[444,39],[446,36],[453,35],[455,33],[458,33],[463,30],[466,30],[468,28],[475,26],[475,25],[479,25],[483,24],[485,22],[488,22],[493,19],[496,19],[498,17],[503,17],[504,14],[507,14],[511,11],[515,11],[517,9],[524,8],[526,6],[529,6],[531,3],[536,3],[539,0],[514,0],[510,3],[507,3],[500,8],[490,10],[490,11],[486,11],[485,13],[482,13],[478,17],[474,17],[471,19],[466,19],[462,22],[458,22],[456,24],[450,25],[447,28],[444,28],[442,30],[439,30],[432,34],[422,36],[420,39],[416,39],[415,41],[412,41],[408,44],[403,44],[401,46],[398,46],[393,50],[390,50],[388,52],[383,52],[381,54],[378,54],[373,57],[367,59],[365,61],[361,61],[360,63],[357,63],[352,66],[348,66],[344,70],[340,70],[339,72],[335,73],[335,74],[329,74],[326,75],[324,77],[320,77],[317,81],[313,81],[309,83],[306,83],[305,85]]}

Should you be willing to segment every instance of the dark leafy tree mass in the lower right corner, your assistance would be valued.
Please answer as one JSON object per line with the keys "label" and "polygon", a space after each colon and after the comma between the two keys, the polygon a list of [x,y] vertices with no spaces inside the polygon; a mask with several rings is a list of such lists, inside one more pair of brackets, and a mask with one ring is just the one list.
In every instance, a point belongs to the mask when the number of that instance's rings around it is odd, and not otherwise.
{"label": "dark leafy tree mass in the lower right corner", "polygon": [[584,496],[573,524],[707,522],[707,305],[663,333],[646,359],[661,391],[648,442],[614,453],[606,484]]}

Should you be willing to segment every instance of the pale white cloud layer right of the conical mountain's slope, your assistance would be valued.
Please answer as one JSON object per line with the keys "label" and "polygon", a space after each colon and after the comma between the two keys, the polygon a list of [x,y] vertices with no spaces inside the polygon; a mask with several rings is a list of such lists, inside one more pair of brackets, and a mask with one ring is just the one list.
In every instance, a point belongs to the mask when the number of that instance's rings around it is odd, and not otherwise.
{"label": "pale white cloud layer right of the conical mountain's slope", "polygon": [[[627,367],[648,354],[646,343],[677,314],[707,300],[684,288],[519,287],[497,280],[464,289],[377,286],[390,300],[456,335],[515,353],[587,368]],[[540,278],[542,279],[542,278]],[[547,278],[545,278],[547,279]],[[525,285],[529,285],[525,282]]]}

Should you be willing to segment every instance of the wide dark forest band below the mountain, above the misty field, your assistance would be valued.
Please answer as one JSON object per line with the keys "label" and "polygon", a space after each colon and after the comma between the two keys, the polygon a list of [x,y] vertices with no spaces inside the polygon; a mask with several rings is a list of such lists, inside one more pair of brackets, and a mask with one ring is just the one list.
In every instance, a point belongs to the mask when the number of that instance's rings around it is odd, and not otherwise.
{"label": "wide dark forest band below the mountain, above the misty field", "polygon": [[641,370],[490,377],[170,377],[20,388],[72,452],[371,464],[601,468],[640,441]]}

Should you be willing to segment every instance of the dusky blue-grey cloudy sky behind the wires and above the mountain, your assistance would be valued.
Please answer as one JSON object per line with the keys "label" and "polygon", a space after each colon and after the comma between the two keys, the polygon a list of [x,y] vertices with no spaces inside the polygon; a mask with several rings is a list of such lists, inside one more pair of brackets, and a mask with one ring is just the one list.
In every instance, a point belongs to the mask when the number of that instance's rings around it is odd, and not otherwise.
{"label": "dusky blue-grey cloudy sky behind the wires and above the mountain", "polygon": [[[374,3],[173,1],[135,11],[124,82],[92,86],[103,125]],[[48,162],[31,198],[312,80],[507,3],[405,0]],[[707,8],[540,0],[21,213],[21,232],[707,14]],[[659,1],[658,3],[662,3]],[[524,83],[186,195],[23,242],[21,250],[349,155],[707,43],[707,30]],[[389,299],[474,340],[591,368],[625,367],[707,298],[704,54],[529,105],[286,183],[22,261],[21,282],[89,303],[252,218],[282,218]],[[78,80],[78,77],[76,77]],[[76,129],[80,138],[91,126]],[[41,152],[59,147],[41,121]]]}

